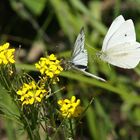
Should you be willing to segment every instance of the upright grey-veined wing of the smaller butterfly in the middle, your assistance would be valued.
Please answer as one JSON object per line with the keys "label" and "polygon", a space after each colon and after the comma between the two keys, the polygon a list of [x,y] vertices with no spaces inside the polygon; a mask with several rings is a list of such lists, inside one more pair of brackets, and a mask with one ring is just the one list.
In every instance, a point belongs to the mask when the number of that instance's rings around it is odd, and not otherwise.
{"label": "upright grey-veined wing of the smaller butterfly in the middle", "polygon": [[81,69],[87,68],[88,64],[88,56],[87,51],[84,48],[84,42],[85,42],[85,34],[84,29],[82,28],[74,44],[74,50],[71,59],[72,64]]}

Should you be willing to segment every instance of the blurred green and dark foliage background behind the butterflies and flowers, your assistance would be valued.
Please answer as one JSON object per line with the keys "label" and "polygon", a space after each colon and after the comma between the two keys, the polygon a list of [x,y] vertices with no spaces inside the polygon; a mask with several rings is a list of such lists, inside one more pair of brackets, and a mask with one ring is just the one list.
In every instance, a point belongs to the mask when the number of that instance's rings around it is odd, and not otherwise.
{"label": "blurred green and dark foliage background behind the butterflies and flowers", "polygon": [[[140,41],[140,0],[1,0],[0,43],[10,42],[16,48],[17,68],[25,71],[34,70],[34,62],[44,54],[70,59],[84,26],[88,71],[107,82],[65,71],[54,87],[64,86],[58,97],[75,95],[85,107],[94,97],[78,126],[77,140],[140,140],[140,64],[132,70],[120,69],[95,54],[120,14],[133,19]],[[31,74],[37,76],[35,71]],[[25,140],[20,124],[10,117],[18,112],[6,91],[0,89],[0,140]]]}

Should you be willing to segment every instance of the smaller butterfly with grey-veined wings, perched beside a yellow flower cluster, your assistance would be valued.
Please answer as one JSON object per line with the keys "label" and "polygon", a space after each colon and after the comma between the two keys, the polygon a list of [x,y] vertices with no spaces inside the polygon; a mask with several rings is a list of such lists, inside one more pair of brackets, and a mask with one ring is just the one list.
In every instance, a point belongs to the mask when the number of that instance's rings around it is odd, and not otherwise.
{"label": "smaller butterfly with grey-veined wings, perched beside a yellow flower cluster", "polygon": [[82,28],[74,44],[72,58],[70,61],[72,67],[76,70],[83,72],[87,76],[91,76],[98,80],[105,81],[103,78],[100,78],[96,75],[93,75],[85,71],[88,65],[88,54],[87,50],[84,48],[84,43],[85,43],[85,34],[84,29]]}

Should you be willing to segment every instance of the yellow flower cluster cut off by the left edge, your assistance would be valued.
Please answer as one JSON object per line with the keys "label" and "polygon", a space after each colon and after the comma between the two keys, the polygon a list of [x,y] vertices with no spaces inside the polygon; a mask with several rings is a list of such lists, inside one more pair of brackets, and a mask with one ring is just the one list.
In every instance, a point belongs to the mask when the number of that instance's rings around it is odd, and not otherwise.
{"label": "yellow flower cluster cut off by the left edge", "polygon": [[10,44],[5,43],[4,45],[0,46],[0,65],[15,63],[14,60],[14,52],[15,49],[9,49]]}

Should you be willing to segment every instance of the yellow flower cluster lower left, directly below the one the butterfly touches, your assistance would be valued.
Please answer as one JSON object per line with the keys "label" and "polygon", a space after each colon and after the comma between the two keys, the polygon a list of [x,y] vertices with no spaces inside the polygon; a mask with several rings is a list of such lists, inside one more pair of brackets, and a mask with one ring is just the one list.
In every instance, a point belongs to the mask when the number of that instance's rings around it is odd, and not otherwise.
{"label": "yellow flower cluster lower left, directly below the one the butterfly touches", "polygon": [[47,91],[44,86],[39,87],[35,81],[32,81],[29,84],[24,83],[20,90],[17,91],[17,94],[21,96],[22,105],[28,105],[41,102]]}

